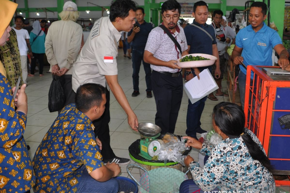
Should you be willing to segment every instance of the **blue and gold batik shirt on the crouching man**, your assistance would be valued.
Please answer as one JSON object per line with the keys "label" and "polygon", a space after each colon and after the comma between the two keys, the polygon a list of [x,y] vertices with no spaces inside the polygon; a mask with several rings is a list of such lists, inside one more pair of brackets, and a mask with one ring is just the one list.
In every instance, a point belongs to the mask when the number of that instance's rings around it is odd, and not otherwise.
{"label": "blue and gold batik shirt on the crouching man", "polygon": [[88,173],[104,166],[91,120],[75,104],[66,106],[56,118],[35,152],[36,193],[76,192],[81,166]]}

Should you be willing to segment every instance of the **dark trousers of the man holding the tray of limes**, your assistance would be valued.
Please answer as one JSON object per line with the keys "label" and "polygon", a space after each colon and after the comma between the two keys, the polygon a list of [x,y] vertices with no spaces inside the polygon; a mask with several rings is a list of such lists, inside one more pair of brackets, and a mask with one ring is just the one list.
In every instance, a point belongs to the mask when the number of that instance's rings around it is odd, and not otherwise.
{"label": "dark trousers of the man holding the tray of limes", "polygon": [[162,134],[174,133],[183,94],[182,74],[170,77],[153,70],[151,80],[157,109],[155,124]]}

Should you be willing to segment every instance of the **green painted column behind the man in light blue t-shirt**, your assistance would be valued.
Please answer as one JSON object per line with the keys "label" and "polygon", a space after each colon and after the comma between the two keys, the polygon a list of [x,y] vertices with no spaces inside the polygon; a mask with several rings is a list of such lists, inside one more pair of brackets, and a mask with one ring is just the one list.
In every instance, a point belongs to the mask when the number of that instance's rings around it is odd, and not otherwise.
{"label": "green painted column behind the man in light blue t-shirt", "polygon": [[285,0],[270,0],[271,21],[278,28],[278,34],[282,39],[284,31]]}

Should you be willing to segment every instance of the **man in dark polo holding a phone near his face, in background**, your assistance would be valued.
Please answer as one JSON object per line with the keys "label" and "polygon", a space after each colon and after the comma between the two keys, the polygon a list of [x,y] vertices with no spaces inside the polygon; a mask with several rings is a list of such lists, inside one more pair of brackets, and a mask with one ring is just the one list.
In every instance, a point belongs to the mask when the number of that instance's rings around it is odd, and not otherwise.
{"label": "man in dark polo holding a phone near his face, in background", "polygon": [[[146,23],[144,20],[144,9],[138,7],[136,10],[137,26],[128,33],[127,41],[130,43],[133,41],[132,45],[132,62],[133,62],[133,93],[132,96],[136,97],[139,95],[139,71],[141,66],[141,61],[143,61],[145,80],[146,80],[146,92],[147,98],[152,98],[152,87],[151,87],[151,68],[150,64],[145,63],[143,60],[144,49],[146,46],[147,38],[151,30],[153,29],[151,23]],[[136,25],[135,24],[135,25]]]}

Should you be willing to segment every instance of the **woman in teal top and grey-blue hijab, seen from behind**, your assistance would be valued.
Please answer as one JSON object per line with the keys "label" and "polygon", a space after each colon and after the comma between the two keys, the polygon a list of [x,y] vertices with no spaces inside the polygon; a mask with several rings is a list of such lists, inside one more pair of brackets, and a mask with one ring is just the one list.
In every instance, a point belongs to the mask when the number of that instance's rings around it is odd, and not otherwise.
{"label": "woman in teal top and grey-blue hijab, seen from behind", "polygon": [[30,75],[28,76],[34,76],[34,70],[35,70],[35,63],[36,59],[38,59],[39,62],[39,76],[44,76],[43,74],[43,57],[45,53],[45,34],[41,30],[41,26],[39,21],[35,21],[32,24],[33,30],[30,32],[30,45],[32,49],[32,60],[31,60],[31,67],[30,67]]}

